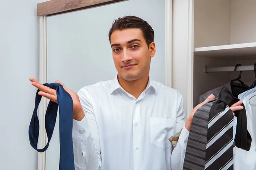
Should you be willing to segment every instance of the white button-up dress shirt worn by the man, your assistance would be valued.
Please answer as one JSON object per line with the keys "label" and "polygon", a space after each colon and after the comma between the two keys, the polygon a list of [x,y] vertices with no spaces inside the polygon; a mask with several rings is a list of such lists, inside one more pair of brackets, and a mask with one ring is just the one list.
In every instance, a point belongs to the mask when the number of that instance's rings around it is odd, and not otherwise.
{"label": "white button-up dress shirt worn by the man", "polygon": [[[85,116],[73,120],[76,170],[182,170],[189,131],[177,90],[149,77],[136,99],[115,76],[78,95]],[[169,137],[181,128],[172,151]]]}

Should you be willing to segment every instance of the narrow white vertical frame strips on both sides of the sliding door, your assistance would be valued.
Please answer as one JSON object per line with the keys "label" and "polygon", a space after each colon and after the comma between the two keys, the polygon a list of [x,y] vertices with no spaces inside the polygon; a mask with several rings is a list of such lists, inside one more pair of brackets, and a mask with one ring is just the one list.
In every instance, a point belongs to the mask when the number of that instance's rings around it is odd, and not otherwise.
{"label": "narrow white vertical frame strips on both sides of the sliding door", "polygon": [[[172,0],[165,0],[166,3],[166,50],[165,50],[165,85],[172,87]],[[47,80],[47,15],[39,16],[39,82],[46,83]],[[38,109],[40,122],[40,133],[38,148],[43,148],[47,142],[44,128],[44,118],[47,110],[47,99],[42,98]],[[38,152],[38,170],[45,170],[46,153]]]}

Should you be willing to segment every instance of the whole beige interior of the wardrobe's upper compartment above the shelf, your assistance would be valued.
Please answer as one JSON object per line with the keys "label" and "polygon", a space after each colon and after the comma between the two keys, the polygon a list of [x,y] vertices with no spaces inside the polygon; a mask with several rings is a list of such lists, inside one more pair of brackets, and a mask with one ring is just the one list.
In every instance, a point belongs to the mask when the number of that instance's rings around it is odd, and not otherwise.
{"label": "whole beige interior of the wardrobe's upper compartment above the shelf", "polygon": [[255,0],[195,0],[195,48],[256,42],[255,6]]}

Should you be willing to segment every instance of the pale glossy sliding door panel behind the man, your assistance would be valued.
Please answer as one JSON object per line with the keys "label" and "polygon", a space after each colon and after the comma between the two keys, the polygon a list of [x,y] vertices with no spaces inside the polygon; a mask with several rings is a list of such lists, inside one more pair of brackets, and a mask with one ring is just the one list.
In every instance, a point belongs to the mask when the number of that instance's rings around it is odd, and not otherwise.
{"label": "pale glossy sliding door panel behind the man", "polygon": [[[108,32],[114,19],[126,15],[141,17],[154,29],[156,54],[151,59],[150,76],[165,84],[165,0],[128,0],[48,16],[47,82],[60,80],[78,92],[86,85],[113,79],[117,72]],[[58,116],[46,151],[46,170],[58,170],[59,166]]]}

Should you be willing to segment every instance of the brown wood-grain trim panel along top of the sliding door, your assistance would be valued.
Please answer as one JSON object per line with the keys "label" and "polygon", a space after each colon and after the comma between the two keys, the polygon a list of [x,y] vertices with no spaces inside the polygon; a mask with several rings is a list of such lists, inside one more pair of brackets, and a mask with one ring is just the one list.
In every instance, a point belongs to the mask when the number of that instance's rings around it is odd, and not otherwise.
{"label": "brown wood-grain trim panel along top of the sliding door", "polygon": [[126,0],[50,0],[37,4],[37,16],[55,15]]}

